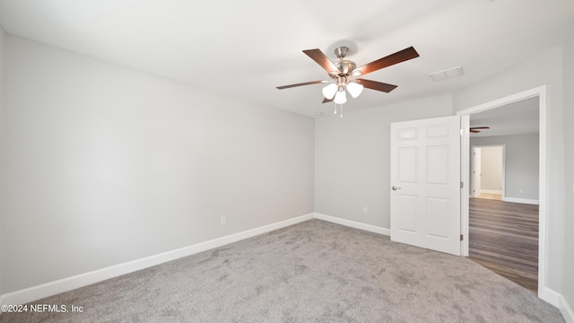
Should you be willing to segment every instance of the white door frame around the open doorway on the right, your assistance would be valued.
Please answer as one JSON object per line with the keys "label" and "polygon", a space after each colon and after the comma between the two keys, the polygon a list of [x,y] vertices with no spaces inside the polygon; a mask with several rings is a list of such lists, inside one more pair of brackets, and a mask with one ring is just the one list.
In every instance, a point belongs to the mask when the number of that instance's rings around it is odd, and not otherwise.
{"label": "white door frame around the open doorway on the right", "polygon": [[[538,97],[539,107],[539,171],[538,171],[538,297],[545,300],[548,295],[544,292],[546,290],[546,266],[547,266],[547,86],[542,85],[534,89],[518,92],[507,97],[492,100],[473,108],[463,109],[457,111],[457,115],[461,117],[462,131],[461,138],[461,180],[463,181],[463,192],[461,193],[461,232],[465,237],[468,237],[468,196],[469,196],[469,170],[470,170],[470,115],[489,109],[500,108],[503,105],[516,102],[518,100],[525,100],[529,98]],[[468,239],[462,241],[462,254],[468,257]]]}

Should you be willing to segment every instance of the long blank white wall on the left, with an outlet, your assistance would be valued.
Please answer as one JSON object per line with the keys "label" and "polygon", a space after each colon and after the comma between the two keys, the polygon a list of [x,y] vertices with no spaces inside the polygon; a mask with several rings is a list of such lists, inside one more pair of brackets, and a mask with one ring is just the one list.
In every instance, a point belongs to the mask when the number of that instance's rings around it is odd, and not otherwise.
{"label": "long blank white wall on the left, with an outlet", "polygon": [[4,118],[0,293],[314,211],[311,118],[12,35]]}

